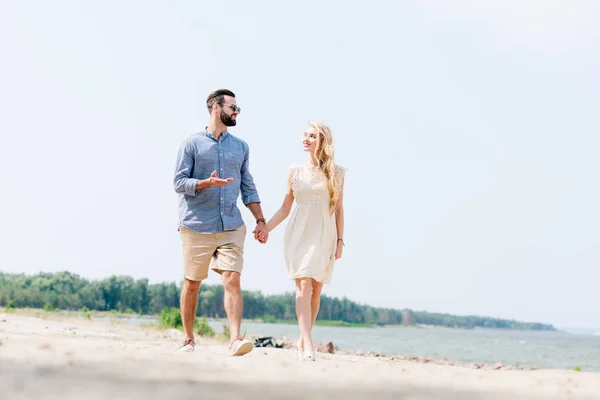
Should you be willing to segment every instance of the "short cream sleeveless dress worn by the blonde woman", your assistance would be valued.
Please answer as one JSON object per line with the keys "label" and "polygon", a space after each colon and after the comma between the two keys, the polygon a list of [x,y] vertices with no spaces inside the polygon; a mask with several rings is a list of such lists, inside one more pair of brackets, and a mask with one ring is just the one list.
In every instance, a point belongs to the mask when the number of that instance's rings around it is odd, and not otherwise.
{"label": "short cream sleeveless dress worn by the blonde woman", "polygon": [[[341,184],[346,169],[336,166],[335,181]],[[283,252],[288,277],[313,278],[330,283],[337,247],[335,213],[329,211],[325,175],[308,164],[291,166],[296,206],[284,235]]]}

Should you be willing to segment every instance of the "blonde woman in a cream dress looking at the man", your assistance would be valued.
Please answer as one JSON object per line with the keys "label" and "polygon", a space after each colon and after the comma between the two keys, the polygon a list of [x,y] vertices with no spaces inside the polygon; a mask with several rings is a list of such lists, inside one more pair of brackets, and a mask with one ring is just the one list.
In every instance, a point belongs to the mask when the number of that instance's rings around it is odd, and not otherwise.
{"label": "blonde woman in a cream dress looking at the man", "polygon": [[267,223],[271,232],[292,209],[284,236],[288,276],[296,282],[296,315],[300,339],[298,358],[315,361],[311,331],[317,319],[324,283],[331,282],[335,260],[344,246],[343,188],[346,169],[333,162],[333,138],[329,127],[313,122],[303,134],[305,164],[293,165],[283,204]]}

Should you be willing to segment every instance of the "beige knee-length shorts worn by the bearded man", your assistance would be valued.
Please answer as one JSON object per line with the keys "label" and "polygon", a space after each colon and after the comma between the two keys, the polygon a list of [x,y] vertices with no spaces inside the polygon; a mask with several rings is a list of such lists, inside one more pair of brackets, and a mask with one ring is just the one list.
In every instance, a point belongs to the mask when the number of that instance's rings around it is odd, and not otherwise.
{"label": "beige knee-length shorts worn by the bearded man", "polygon": [[242,273],[246,225],[235,231],[197,233],[184,226],[179,229],[183,247],[184,276],[191,281],[208,277],[208,269]]}

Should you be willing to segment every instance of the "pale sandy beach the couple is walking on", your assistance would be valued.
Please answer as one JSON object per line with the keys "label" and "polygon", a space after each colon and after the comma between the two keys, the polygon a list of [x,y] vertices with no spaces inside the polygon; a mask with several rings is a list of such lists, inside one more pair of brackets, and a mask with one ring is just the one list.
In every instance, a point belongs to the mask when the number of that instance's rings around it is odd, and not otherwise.
{"label": "pale sandy beach the couple is walking on", "polygon": [[[600,373],[494,371],[288,349],[229,357],[177,330],[0,313],[0,399],[598,399]],[[334,340],[335,338],[332,338]]]}

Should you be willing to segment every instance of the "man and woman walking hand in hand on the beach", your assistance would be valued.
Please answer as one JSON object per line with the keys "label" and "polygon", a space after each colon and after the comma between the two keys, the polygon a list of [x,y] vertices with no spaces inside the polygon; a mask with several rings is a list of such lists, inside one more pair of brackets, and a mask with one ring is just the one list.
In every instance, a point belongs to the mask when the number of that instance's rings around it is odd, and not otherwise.
{"label": "man and woman walking hand in hand on the beach", "polygon": [[[334,164],[331,130],[313,122],[302,136],[307,162],[292,165],[281,207],[267,222],[249,168],[248,144],[227,132],[240,107],[227,89],[212,92],[206,105],[208,126],[188,137],[179,149],[174,177],[179,194],[179,233],[184,281],[181,317],[185,340],[179,351],[195,349],[194,318],[201,282],[209,269],[223,280],[224,305],[231,334],[230,354],[249,353],[254,345],[240,336],[246,227],[236,203],[242,201],[256,218],[254,238],[266,243],[269,232],[290,218],[284,236],[288,277],[296,283],[296,315],[300,360],[315,361],[312,327],[319,312],[321,289],[331,281],[335,260],[344,246],[343,187],[345,169]],[[292,207],[296,200],[296,207]],[[293,210],[292,210],[293,209]],[[291,213],[291,215],[290,215]]]}

